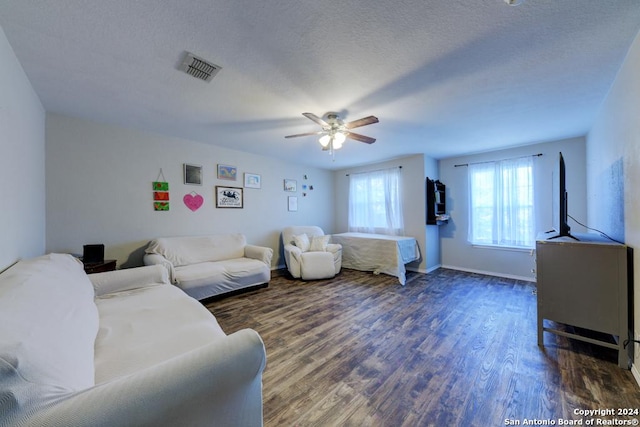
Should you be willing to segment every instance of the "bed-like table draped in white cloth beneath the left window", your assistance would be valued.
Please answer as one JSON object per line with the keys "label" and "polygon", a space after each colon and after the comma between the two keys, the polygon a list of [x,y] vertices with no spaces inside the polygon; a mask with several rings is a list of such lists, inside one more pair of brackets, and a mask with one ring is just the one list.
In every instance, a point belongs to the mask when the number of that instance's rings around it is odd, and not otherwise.
{"label": "bed-like table draped in white cloth beneath the left window", "polygon": [[339,233],[331,236],[342,245],[342,266],[360,271],[385,273],[406,283],[405,264],[420,259],[418,243],[413,237],[385,234]]}

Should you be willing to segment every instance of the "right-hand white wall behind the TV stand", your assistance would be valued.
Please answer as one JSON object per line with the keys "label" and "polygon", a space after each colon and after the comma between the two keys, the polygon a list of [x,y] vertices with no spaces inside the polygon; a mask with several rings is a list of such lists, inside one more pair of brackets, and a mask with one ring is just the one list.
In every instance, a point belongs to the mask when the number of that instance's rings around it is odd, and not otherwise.
{"label": "right-hand white wall behind the TV stand", "polygon": [[[587,135],[589,226],[625,242],[636,252],[634,330],[640,339],[640,35]],[[633,372],[640,382],[640,345]]]}

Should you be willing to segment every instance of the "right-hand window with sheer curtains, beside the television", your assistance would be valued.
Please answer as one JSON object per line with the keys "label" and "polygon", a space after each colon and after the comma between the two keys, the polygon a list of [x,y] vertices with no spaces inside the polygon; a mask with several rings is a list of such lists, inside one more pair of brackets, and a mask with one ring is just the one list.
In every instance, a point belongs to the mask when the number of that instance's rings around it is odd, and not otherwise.
{"label": "right-hand window with sheer curtains, beside the television", "polygon": [[533,247],[532,157],[469,165],[469,242]]}

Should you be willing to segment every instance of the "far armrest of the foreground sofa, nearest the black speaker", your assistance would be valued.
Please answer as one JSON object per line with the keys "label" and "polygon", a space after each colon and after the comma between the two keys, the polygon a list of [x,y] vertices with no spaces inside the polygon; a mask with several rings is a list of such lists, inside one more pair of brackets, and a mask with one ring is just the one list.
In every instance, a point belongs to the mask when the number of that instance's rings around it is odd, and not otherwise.
{"label": "far armrest of the foreground sofa, nearest the black speaker", "polygon": [[169,283],[167,269],[161,265],[94,273],[89,274],[88,277],[93,284],[96,296]]}

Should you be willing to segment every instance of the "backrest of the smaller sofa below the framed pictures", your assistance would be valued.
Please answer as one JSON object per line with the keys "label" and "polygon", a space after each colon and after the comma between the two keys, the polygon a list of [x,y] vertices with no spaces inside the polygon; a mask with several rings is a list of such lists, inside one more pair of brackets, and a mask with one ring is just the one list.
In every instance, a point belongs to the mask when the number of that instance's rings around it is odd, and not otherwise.
{"label": "backrest of the smaller sofa below the framed pictures", "polygon": [[206,261],[222,261],[244,256],[243,234],[161,237],[149,243],[148,254],[159,254],[175,267]]}

